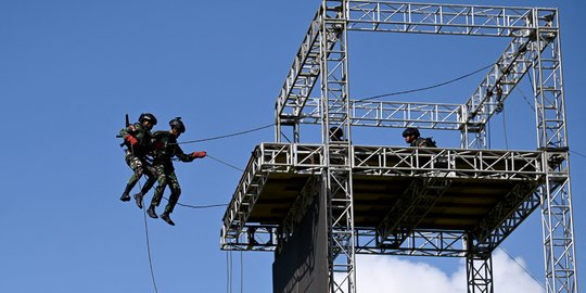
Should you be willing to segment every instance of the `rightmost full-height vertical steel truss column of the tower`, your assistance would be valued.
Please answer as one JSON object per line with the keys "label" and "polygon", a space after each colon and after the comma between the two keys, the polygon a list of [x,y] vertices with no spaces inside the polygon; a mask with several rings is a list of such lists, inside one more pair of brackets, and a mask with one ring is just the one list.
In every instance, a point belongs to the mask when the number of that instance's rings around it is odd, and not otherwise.
{"label": "rightmost full-height vertical steel truss column of the tower", "polygon": [[[565,129],[559,16],[539,15],[546,23],[537,28],[533,65],[537,144],[545,152],[546,183],[540,187],[542,224],[547,293],[576,293],[574,227],[570,189],[570,164]],[[556,25],[552,25],[556,24]],[[543,52],[539,48],[544,48]]]}

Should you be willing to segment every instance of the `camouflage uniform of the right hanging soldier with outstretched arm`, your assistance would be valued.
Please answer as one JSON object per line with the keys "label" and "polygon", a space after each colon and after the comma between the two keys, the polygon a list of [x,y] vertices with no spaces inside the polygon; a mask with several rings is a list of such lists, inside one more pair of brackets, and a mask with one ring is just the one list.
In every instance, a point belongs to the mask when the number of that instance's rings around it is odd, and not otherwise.
{"label": "camouflage uniform of the right hanging soldier with outstretched arm", "polygon": [[153,165],[158,186],[155,188],[151,208],[161,204],[165,187],[169,186],[171,193],[169,195],[169,203],[165,206],[165,212],[170,214],[179,201],[179,195],[181,195],[181,187],[175,175],[173,158],[177,157],[181,162],[192,162],[194,157],[191,154],[183,153],[179,144],[177,144],[177,138],[169,131],[154,132],[153,148]]}

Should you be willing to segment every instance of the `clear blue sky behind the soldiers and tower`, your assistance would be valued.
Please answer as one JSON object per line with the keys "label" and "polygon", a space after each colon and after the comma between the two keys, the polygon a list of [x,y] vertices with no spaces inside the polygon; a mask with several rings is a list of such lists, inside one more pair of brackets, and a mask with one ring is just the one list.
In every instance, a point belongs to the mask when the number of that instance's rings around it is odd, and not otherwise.
{"label": "clear blue sky behind the soldiers and tower", "polygon": [[[571,168],[579,273],[586,265],[586,219],[579,213],[586,205],[581,180],[586,174],[586,44],[579,18],[585,4],[512,4],[560,8],[569,141],[575,152]],[[167,129],[169,119],[181,116],[187,132],[180,140],[272,123],[275,101],[318,5],[319,1],[268,0],[0,2],[0,122],[7,127],[0,143],[0,292],[153,292],[142,211],[118,200],[131,175],[115,138],[124,115],[135,120],[152,112],[160,119],[155,129]],[[458,77],[495,62],[507,41],[351,34],[351,94],[360,99]],[[393,100],[461,103],[482,78],[480,74]],[[520,88],[531,98],[526,80]],[[492,146],[535,149],[534,118],[522,95],[514,92],[505,114],[493,122]],[[308,141],[318,132],[315,127],[304,131]],[[355,143],[403,145],[399,132],[359,129]],[[455,133],[424,135],[434,136],[440,145],[459,144]],[[244,167],[254,146],[265,141],[273,141],[271,129],[186,144],[183,150],[205,150]],[[176,165],[183,190],[180,202],[192,205],[227,203],[241,175],[209,158]],[[149,219],[160,292],[227,291],[229,255],[219,250],[224,212],[178,206],[173,215],[176,227]],[[538,213],[504,247],[544,282]],[[240,291],[244,276],[243,292],[270,292],[272,257],[232,253],[233,291]],[[504,259],[498,262],[501,271],[514,269],[528,278],[502,253],[498,257]],[[447,278],[448,283],[461,265],[443,258],[399,260],[406,267],[431,266],[435,276],[445,273],[437,282]],[[372,262],[390,268],[399,260]],[[495,270],[500,267],[495,265]]]}

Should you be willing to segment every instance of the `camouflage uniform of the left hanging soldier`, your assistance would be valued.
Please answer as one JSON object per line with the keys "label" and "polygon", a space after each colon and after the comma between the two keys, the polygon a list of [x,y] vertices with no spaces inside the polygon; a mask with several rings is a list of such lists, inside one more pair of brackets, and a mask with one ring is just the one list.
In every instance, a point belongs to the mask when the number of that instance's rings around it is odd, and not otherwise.
{"label": "camouflage uniform of the left hanging soldier", "polygon": [[[120,136],[132,136],[137,139],[138,143],[131,145],[127,141],[124,158],[126,164],[133,170],[132,176],[126,184],[123,196],[128,195],[130,190],[135,188],[142,175],[146,175],[146,183],[142,188],[141,192],[146,192],[151,189],[155,182],[155,170],[149,162],[146,162],[146,153],[149,152],[151,144],[151,131],[140,123],[135,123],[126,128],[120,130]],[[129,200],[129,199],[128,199]]]}

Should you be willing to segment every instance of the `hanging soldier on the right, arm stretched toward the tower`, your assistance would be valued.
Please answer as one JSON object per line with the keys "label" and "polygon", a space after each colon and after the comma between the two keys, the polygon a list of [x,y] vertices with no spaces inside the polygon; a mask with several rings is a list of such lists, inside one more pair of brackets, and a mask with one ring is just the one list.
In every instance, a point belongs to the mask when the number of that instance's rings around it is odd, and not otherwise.
{"label": "hanging soldier on the right, arm stretched toward the tower", "polygon": [[[177,117],[169,122],[169,126],[171,128],[169,131],[156,131],[153,133],[153,166],[155,168],[158,186],[155,188],[151,206],[146,209],[146,214],[152,218],[157,218],[155,207],[161,204],[165,187],[168,186],[171,193],[169,195],[169,202],[167,206],[165,206],[165,212],[161,214],[161,218],[167,224],[175,226],[175,222],[173,222],[169,215],[173,213],[175,205],[179,201],[181,187],[175,175],[173,158],[177,157],[181,162],[192,162],[195,158],[205,157],[206,152],[183,153],[177,143],[177,138],[186,131],[183,122],[181,122],[180,117]],[[137,201],[137,205],[142,208],[142,194],[137,194],[135,200]]]}

